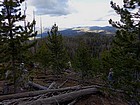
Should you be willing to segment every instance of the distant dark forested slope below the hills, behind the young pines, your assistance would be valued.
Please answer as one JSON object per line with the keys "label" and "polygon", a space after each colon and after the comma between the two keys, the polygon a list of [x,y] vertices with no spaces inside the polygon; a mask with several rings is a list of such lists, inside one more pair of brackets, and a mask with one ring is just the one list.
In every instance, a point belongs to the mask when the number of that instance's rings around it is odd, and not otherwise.
{"label": "distant dark forested slope below the hills, behind the young pines", "polygon": [[64,37],[64,45],[66,46],[71,60],[74,59],[76,49],[82,40],[90,49],[90,54],[95,59],[100,59],[100,55],[104,50],[110,49],[113,35],[100,35],[97,33],[85,33],[73,37]]}

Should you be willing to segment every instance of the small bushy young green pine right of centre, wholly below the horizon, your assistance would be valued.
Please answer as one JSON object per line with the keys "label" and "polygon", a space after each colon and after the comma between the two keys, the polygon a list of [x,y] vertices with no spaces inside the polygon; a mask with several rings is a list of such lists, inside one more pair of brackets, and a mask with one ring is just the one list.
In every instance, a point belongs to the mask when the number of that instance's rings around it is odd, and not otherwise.
{"label": "small bushy young green pine right of centre, wholly below the horizon", "polygon": [[80,71],[82,80],[92,73],[92,57],[88,46],[80,42],[76,50],[74,65],[76,70]]}

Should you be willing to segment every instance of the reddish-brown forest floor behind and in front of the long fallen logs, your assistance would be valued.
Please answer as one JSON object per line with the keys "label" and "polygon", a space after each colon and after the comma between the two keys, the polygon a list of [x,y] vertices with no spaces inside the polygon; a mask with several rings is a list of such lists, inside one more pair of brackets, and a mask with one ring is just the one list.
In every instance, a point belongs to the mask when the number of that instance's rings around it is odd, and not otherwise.
{"label": "reddish-brown forest floor behind and in front of the long fallen logs", "polygon": [[[59,75],[59,76],[42,72],[42,73],[38,73],[38,75],[34,77],[33,82],[46,87],[48,87],[52,82],[56,82],[57,87],[61,87],[61,88],[72,87],[77,85],[103,86],[104,84],[97,78],[85,79],[85,81],[81,81],[80,77],[75,72],[65,72],[63,75]],[[1,88],[2,88],[2,83],[0,83],[0,89]],[[91,94],[91,95],[79,97],[72,105],[128,105],[126,102],[122,100],[122,94],[115,93],[115,95],[113,94],[110,95],[109,91],[104,91],[102,89],[101,91],[102,91],[101,94]]]}

